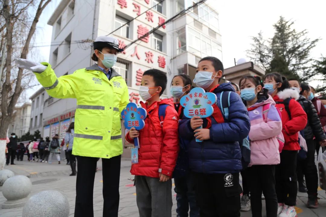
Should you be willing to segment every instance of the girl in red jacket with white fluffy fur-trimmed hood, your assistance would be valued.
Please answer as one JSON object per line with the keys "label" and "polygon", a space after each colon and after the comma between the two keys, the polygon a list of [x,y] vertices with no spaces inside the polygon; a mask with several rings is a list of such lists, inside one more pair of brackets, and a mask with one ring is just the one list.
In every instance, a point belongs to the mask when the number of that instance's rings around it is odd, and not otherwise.
{"label": "girl in red jacket with white fluffy fur-trimmed hood", "polygon": [[295,217],[297,199],[297,153],[300,150],[298,132],[307,124],[307,115],[296,100],[299,93],[289,89],[289,82],[278,73],[264,77],[264,88],[268,89],[276,107],[282,114],[282,132],[285,144],[280,154],[281,163],[275,169],[276,194],[279,217]]}

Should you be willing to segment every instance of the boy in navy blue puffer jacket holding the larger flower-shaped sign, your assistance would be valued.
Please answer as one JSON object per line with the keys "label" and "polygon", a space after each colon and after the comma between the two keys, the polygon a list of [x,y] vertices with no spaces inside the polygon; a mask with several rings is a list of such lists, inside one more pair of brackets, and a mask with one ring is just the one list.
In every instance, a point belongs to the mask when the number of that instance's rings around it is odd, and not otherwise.
{"label": "boy in navy blue puffer jacket holding the larger flower-shaped sign", "polygon": [[[231,83],[218,84],[223,76],[223,64],[215,57],[205,57],[198,63],[194,83],[213,92],[217,101],[208,118],[194,116],[180,122],[179,134],[191,140],[188,147],[189,166],[195,179],[196,200],[200,216],[240,216],[239,172],[242,169],[238,141],[247,137],[250,120],[247,109],[234,92]],[[220,97],[229,95],[229,117],[221,112]],[[202,129],[197,129],[202,125]],[[196,142],[196,138],[202,142]]]}

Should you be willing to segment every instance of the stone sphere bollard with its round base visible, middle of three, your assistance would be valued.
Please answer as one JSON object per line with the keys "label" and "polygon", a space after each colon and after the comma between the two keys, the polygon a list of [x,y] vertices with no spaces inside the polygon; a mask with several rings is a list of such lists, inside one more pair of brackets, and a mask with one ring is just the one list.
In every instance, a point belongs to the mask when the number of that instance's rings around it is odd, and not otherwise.
{"label": "stone sphere bollard with its round base visible, middle of three", "polygon": [[24,206],[31,190],[32,182],[26,176],[18,175],[7,179],[2,186],[2,194],[7,199],[2,204],[2,209]]}

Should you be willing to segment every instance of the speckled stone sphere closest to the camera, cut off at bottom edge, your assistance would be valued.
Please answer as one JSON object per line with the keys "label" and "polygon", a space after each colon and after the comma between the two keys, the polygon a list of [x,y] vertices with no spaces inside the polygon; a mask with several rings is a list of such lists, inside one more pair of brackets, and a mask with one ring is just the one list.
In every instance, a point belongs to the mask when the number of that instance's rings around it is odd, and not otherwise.
{"label": "speckled stone sphere closest to the camera, cut off at bottom edge", "polygon": [[59,191],[41,191],[26,202],[22,217],[68,217],[69,202]]}

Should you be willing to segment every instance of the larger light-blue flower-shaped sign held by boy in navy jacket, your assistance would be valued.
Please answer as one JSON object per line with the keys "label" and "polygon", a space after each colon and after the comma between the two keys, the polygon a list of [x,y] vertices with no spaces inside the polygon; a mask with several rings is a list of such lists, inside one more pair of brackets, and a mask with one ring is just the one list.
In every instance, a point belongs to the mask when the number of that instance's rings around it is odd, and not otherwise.
{"label": "larger light-blue flower-shaped sign held by boy in navy jacket", "polygon": [[209,117],[213,114],[213,105],[216,100],[214,93],[205,93],[203,88],[193,88],[190,93],[181,98],[180,105],[185,107],[184,115],[188,118]]}

